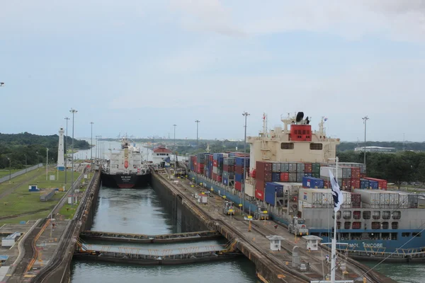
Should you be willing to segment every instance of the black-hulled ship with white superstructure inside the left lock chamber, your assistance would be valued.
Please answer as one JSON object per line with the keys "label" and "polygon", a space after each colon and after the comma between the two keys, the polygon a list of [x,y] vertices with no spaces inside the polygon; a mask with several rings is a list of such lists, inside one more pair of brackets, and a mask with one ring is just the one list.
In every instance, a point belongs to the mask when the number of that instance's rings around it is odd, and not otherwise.
{"label": "black-hulled ship with white superstructure inside the left lock chamber", "polygon": [[149,166],[142,162],[140,148],[131,145],[126,137],[121,140],[121,149],[111,151],[101,169],[102,185],[106,187],[143,187],[150,178]]}

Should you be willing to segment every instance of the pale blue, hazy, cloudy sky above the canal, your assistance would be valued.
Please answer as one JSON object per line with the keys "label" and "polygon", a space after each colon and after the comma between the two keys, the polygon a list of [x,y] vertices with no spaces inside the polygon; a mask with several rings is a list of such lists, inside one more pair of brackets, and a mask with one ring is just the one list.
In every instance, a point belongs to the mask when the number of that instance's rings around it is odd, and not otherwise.
{"label": "pale blue, hazy, cloudy sky above the canal", "polygon": [[[425,1],[0,0],[0,132],[424,141]],[[68,125],[72,134],[72,120]]]}

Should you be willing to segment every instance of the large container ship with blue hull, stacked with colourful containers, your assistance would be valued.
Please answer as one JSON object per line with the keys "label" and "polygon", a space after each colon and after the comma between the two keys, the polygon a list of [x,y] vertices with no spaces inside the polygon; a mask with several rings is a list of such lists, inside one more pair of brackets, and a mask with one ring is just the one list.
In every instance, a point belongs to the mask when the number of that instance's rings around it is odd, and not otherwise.
{"label": "large container ship with blue hull, stacked with colourful containers", "polygon": [[[282,117],[282,126],[247,137],[250,153],[190,156],[192,180],[239,204],[246,212],[266,212],[271,219],[306,226],[310,235],[331,242],[334,202],[329,171],[337,176],[344,201],[337,212],[337,248],[354,258],[370,254],[414,253],[425,246],[425,209],[418,195],[387,190],[387,181],[368,178],[363,163],[338,163],[339,139],[327,137],[324,117],[312,130],[303,112]],[[245,182],[245,183],[244,183]],[[344,243],[344,246],[342,245]]]}

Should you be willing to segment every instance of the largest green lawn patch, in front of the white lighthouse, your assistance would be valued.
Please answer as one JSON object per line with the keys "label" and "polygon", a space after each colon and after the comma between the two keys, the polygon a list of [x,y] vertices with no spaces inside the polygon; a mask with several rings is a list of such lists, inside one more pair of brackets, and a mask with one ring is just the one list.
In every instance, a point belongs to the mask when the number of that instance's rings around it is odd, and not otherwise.
{"label": "largest green lawn patch, in front of the white lighthouse", "polygon": [[[50,170],[48,175],[57,175],[55,168]],[[59,173],[59,180],[46,180],[45,174],[39,175],[35,180],[21,185],[10,195],[0,200],[0,216],[33,212],[38,209],[52,209],[64,195],[64,192],[56,192],[55,196],[47,202],[40,201],[40,192],[28,192],[28,185],[38,185],[40,189],[62,187],[64,185],[64,172]],[[79,173],[74,172],[74,179]],[[68,173],[68,184],[71,183],[71,174]],[[6,203],[6,204],[5,204]],[[47,212],[46,212],[47,213]],[[25,216],[24,216],[25,217]],[[27,217],[28,219],[28,217]]]}

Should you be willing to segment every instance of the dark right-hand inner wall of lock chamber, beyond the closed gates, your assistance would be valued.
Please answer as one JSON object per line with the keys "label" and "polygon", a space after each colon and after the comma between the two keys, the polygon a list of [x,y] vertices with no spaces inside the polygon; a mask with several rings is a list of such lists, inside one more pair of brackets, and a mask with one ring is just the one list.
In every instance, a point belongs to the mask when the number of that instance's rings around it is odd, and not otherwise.
{"label": "dark right-hand inner wall of lock chamber, beyond the closed gates", "polygon": [[176,224],[176,233],[196,232],[208,230],[198,216],[182,204],[182,198],[169,190],[156,175],[152,175],[152,187],[157,192],[166,212],[173,216]]}

